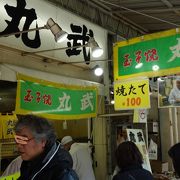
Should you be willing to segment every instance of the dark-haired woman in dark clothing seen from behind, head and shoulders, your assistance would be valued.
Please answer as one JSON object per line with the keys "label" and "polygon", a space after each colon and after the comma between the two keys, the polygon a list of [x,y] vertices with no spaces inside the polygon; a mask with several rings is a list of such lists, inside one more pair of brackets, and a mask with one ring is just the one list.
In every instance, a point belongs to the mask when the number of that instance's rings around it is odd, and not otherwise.
{"label": "dark-haired woman in dark clothing seen from behind, head and shoulders", "polygon": [[121,143],[116,150],[116,159],[120,171],[113,180],[153,180],[152,174],[143,169],[142,155],[133,142]]}

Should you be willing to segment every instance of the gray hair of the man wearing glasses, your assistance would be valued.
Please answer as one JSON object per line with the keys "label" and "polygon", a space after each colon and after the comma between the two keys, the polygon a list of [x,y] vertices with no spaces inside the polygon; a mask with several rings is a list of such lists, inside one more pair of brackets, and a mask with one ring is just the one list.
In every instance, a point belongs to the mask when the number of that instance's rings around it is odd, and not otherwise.
{"label": "gray hair of the man wearing glasses", "polygon": [[52,146],[56,141],[56,134],[52,124],[45,118],[35,115],[19,115],[15,125],[15,133],[24,127],[28,128],[36,142],[46,140],[46,146]]}

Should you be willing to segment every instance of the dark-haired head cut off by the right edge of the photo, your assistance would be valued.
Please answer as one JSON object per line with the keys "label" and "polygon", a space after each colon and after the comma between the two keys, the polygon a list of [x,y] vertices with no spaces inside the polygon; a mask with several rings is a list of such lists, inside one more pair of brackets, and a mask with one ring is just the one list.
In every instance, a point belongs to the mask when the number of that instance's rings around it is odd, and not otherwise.
{"label": "dark-haired head cut off by the right edge of the photo", "polygon": [[172,146],[168,151],[169,156],[172,159],[174,170],[180,176],[180,143]]}

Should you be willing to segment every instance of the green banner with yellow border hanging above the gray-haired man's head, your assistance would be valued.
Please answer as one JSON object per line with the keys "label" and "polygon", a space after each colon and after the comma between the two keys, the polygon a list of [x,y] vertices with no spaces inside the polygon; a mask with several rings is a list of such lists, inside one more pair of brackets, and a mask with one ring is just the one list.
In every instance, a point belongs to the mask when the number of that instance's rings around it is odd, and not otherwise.
{"label": "green banner with yellow border hanging above the gray-haired man's head", "polygon": [[19,75],[16,113],[35,113],[53,119],[96,116],[97,89],[67,86]]}

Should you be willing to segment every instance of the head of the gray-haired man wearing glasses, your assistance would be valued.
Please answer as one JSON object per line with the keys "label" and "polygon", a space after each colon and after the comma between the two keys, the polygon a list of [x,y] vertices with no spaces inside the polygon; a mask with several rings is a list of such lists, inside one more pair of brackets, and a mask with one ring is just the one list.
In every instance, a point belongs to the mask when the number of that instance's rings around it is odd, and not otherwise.
{"label": "head of the gray-haired man wearing glasses", "polygon": [[32,160],[50,148],[56,141],[51,123],[34,115],[18,116],[15,140],[23,160]]}

